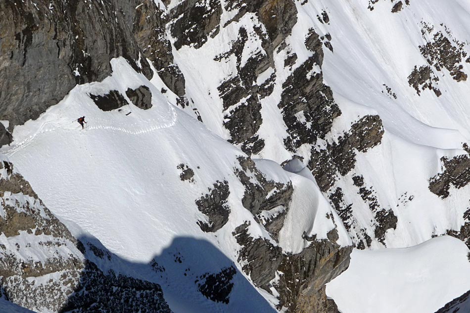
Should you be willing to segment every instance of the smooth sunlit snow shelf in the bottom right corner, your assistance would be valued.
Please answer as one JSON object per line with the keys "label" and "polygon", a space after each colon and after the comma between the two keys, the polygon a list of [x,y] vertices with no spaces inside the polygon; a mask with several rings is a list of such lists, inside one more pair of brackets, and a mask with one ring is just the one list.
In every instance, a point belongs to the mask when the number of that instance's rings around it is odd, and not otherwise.
{"label": "smooth sunlit snow shelf in the bottom right corner", "polygon": [[468,254],[448,236],[410,248],[353,250],[327,295],[341,313],[433,313],[470,289]]}

